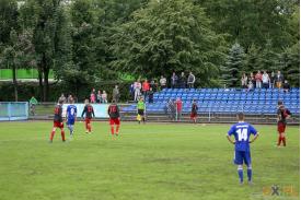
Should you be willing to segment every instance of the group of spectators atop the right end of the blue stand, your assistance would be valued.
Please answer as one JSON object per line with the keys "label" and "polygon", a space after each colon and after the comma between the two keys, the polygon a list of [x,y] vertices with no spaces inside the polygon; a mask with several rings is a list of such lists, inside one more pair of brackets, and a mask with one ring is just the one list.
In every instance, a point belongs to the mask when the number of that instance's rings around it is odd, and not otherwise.
{"label": "group of spectators atop the right end of the blue stand", "polygon": [[254,75],[253,72],[250,73],[247,77],[243,73],[241,78],[241,85],[243,89],[247,89],[252,91],[254,89],[283,89],[285,92],[290,90],[290,84],[287,80],[285,80],[282,73],[280,71],[275,72],[273,71],[270,74],[267,73],[266,70],[262,71],[258,70],[257,73]]}

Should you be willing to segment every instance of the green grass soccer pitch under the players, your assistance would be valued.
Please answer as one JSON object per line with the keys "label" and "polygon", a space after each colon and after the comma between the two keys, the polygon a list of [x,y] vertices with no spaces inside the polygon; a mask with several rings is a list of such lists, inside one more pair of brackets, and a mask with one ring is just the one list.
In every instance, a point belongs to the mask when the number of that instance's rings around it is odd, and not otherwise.
{"label": "green grass soccer pitch under the players", "polygon": [[50,121],[0,126],[1,200],[275,199],[273,185],[277,199],[299,199],[299,127],[288,127],[288,146],[278,149],[276,127],[256,126],[254,185],[240,186],[229,125],[124,122],[112,140],[106,122],[93,122],[91,136],[77,123],[72,141],[57,131],[53,144]]}

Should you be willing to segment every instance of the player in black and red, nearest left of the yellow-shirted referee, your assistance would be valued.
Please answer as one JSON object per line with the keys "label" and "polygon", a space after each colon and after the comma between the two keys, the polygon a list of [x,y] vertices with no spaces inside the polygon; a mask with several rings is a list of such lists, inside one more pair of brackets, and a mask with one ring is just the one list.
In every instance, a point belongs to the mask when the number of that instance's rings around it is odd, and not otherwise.
{"label": "player in black and red, nearest left of the yellow-shirted referee", "polygon": [[119,134],[119,126],[120,126],[120,114],[119,107],[117,106],[115,99],[112,101],[112,104],[107,108],[107,115],[109,116],[109,125],[111,125],[111,133],[114,137],[114,125],[116,125],[116,137]]}

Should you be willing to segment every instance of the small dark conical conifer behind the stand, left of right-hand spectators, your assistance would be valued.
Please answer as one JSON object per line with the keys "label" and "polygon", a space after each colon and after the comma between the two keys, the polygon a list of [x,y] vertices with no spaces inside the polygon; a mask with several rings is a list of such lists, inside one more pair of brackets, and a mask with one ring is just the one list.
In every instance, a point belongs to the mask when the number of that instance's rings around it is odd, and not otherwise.
{"label": "small dark conical conifer behind the stand, left of right-hand spectators", "polygon": [[229,51],[224,66],[221,67],[222,83],[229,87],[239,86],[244,66],[244,49],[240,44],[235,43]]}

